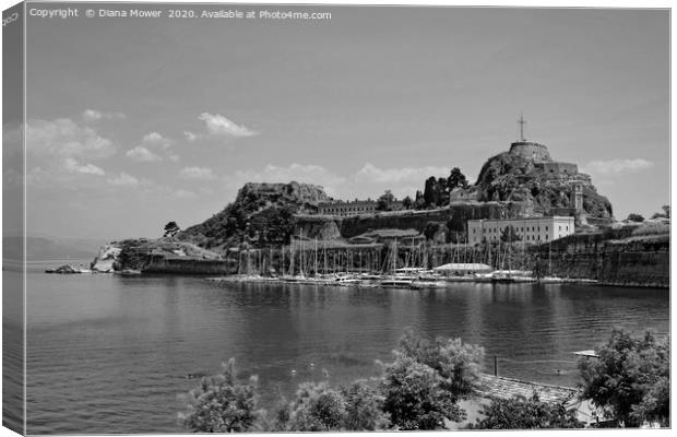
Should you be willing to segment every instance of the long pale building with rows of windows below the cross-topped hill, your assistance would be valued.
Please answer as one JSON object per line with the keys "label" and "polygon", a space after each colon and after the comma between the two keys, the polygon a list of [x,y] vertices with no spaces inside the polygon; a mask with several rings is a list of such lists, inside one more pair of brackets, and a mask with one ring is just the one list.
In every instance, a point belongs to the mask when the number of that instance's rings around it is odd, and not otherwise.
{"label": "long pale building with rows of windows below the cross-topped hill", "polygon": [[518,238],[525,244],[539,245],[574,233],[574,218],[570,216],[523,217],[499,220],[468,220],[467,240],[471,245],[498,241],[503,231],[512,226]]}

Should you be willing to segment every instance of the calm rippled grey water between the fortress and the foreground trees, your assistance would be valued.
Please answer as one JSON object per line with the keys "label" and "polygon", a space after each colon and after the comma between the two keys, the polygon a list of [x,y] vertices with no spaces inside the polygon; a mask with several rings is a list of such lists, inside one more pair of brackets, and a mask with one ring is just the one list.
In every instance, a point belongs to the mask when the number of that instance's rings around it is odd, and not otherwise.
{"label": "calm rippled grey water between the fortress and the foreground trees", "polygon": [[[235,357],[262,401],[299,382],[376,376],[405,327],[485,347],[486,369],[573,386],[572,351],[613,326],[668,332],[667,290],[459,284],[430,291],[218,284],[200,277],[27,279],[27,427],[44,433],[181,432],[189,373]],[[312,366],[311,366],[312,364]],[[296,370],[296,374],[292,374]]]}

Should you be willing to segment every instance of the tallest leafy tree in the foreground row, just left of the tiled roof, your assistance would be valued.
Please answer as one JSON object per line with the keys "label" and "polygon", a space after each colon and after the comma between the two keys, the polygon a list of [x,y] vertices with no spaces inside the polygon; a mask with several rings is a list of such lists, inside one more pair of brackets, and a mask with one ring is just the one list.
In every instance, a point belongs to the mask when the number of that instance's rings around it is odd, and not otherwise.
{"label": "tallest leafy tree in the foreground row, just left of the tiled roof", "polygon": [[382,383],[383,410],[401,429],[436,429],[444,421],[461,422],[465,411],[458,405],[478,381],[484,350],[460,339],[437,338],[433,342],[407,330],[385,366]]}

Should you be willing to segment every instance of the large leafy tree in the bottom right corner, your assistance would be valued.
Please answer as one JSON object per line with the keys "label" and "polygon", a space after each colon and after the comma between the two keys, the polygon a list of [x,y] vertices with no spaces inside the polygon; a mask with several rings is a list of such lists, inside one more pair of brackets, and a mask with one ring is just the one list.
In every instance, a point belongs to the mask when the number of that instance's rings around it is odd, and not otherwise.
{"label": "large leafy tree in the bottom right corner", "polygon": [[584,399],[625,426],[644,421],[669,426],[669,338],[614,329],[597,355],[579,362]]}

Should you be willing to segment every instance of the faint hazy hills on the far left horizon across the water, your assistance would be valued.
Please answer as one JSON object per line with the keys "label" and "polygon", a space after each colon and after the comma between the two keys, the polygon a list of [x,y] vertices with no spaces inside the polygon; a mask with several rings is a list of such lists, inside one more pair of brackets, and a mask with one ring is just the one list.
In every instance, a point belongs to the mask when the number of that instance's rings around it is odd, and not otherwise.
{"label": "faint hazy hills on the far left horizon across the water", "polygon": [[[94,259],[98,248],[105,243],[98,239],[71,237],[26,237],[26,260]],[[20,237],[2,237],[2,245],[3,258],[17,260],[21,257]]]}

